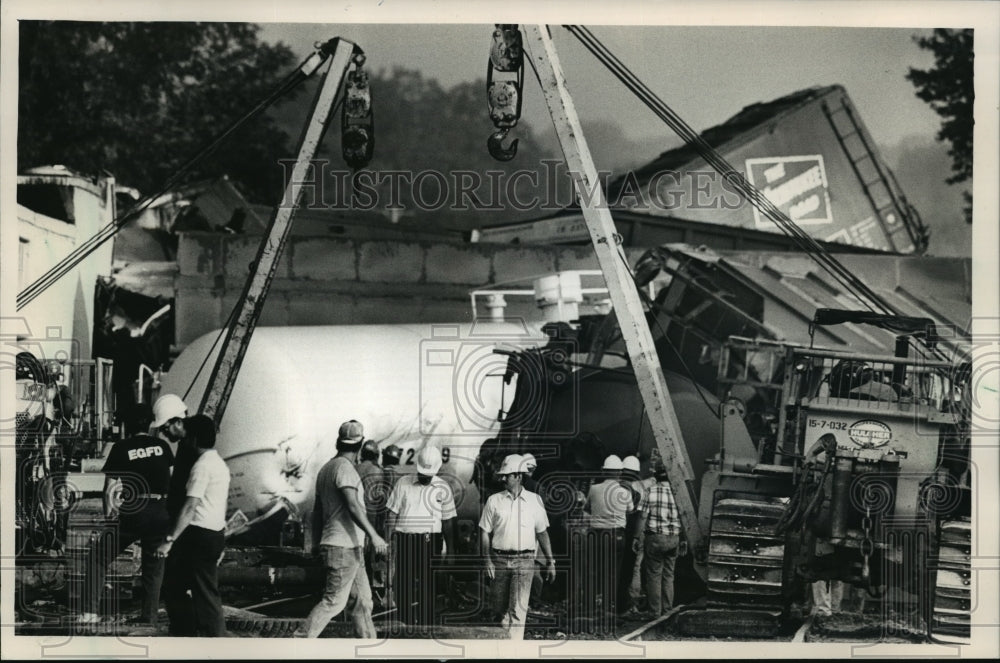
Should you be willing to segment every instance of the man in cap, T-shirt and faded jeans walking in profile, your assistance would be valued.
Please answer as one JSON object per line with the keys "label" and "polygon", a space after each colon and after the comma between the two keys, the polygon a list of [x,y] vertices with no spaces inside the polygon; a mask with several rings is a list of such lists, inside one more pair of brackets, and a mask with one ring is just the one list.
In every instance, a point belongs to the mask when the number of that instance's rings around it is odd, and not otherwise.
{"label": "man in cap, T-shirt and faded jeans walking in profile", "polygon": [[368,520],[365,489],[354,466],[363,440],[360,422],[344,422],[337,435],[337,455],[316,475],[312,541],[326,565],[326,587],[323,598],[296,631],[298,637],[318,637],[350,598],[355,599],[351,611],[355,637],[376,637],[372,590],[365,572],[365,535],[371,537],[376,555],[384,555],[387,546]]}

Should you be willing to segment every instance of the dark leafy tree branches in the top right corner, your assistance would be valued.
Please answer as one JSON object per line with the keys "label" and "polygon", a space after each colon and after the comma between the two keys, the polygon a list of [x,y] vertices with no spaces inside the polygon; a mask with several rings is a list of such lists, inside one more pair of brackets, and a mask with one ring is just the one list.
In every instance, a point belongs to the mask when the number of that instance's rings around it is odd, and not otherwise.
{"label": "dark leafy tree branches in the top right corner", "polygon": [[[934,54],[930,69],[910,68],[906,78],[917,88],[917,97],[930,104],[943,120],[937,133],[951,143],[952,176],[948,184],[972,178],[973,31],[936,29],[929,37],[914,37],[920,48]],[[972,221],[972,195],[965,192],[966,221]]]}

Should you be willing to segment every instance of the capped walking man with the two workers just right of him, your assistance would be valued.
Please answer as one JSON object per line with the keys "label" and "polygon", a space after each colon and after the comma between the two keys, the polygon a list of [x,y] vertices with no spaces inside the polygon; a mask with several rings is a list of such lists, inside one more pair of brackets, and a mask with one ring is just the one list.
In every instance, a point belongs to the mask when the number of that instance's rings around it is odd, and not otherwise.
{"label": "capped walking man with the two workers just right of him", "polygon": [[438,476],[441,451],[423,448],[415,474],[397,473],[401,456],[398,446],[389,445],[380,467],[378,445],[365,440],[363,425],[356,420],[341,425],[337,455],[317,475],[311,528],[326,586],[297,636],[319,636],[353,599],[354,635],[374,638],[373,581],[384,585],[382,604],[396,609],[398,623],[430,623],[439,585],[446,581],[433,567],[454,559],[458,514],[451,485]]}

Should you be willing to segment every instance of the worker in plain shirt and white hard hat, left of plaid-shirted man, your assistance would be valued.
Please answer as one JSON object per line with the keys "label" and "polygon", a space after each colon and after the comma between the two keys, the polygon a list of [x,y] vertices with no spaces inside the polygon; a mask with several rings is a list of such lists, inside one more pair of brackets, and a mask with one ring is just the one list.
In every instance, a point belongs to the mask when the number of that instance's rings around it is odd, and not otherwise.
{"label": "worker in plain shirt and white hard hat, left of plaid-shirted man", "polygon": [[[598,631],[614,629],[615,600],[618,578],[625,551],[626,516],[635,510],[632,494],[621,484],[622,460],[612,454],[604,459],[602,481],[590,487],[584,509],[590,513],[589,541],[591,568],[595,588],[591,613]],[[597,597],[601,597],[600,609]]]}

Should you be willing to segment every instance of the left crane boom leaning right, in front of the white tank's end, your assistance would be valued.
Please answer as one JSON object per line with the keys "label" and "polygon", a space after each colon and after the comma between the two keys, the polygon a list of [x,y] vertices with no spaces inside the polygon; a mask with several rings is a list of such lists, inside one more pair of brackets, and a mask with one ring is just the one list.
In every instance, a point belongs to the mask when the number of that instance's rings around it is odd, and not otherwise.
{"label": "left crane boom leaning right, in front of the white tank's end", "polygon": [[219,350],[215,366],[212,368],[208,379],[208,388],[205,390],[199,408],[202,414],[212,417],[216,426],[219,425],[225,414],[226,404],[229,402],[229,396],[236,383],[240,365],[246,355],[247,347],[250,345],[254,329],[257,327],[257,321],[260,320],[267,292],[271,288],[274,273],[278,268],[281,251],[288,239],[292,214],[295,212],[303,189],[308,183],[306,175],[316,154],[316,149],[329,125],[330,113],[333,111],[337,93],[347,75],[352,56],[355,51],[359,50],[355,44],[338,38],[324,44],[314,55],[315,58],[321,59],[320,62],[315,63],[316,67],[322,64],[322,61],[327,60],[331,52],[333,54],[332,62],[330,68],[327,69],[323,83],[316,95],[311,115],[307,120],[295,166],[285,186],[281,204],[275,207],[267,233],[257,250],[257,258],[252,265],[253,273],[247,279],[239,299],[240,309],[233,323],[226,329],[225,340]]}

